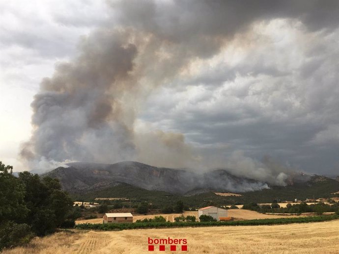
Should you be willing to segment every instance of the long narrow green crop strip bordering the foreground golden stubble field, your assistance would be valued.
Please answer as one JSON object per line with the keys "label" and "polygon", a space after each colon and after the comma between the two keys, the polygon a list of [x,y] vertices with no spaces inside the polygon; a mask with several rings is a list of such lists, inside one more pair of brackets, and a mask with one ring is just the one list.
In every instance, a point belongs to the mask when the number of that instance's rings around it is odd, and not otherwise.
{"label": "long narrow green crop strip bordering the foreground golden stubble field", "polygon": [[259,226],[259,225],[279,225],[291,223],[322,222],[339,219],[339,216],[321,215],[295,218],[260,219],[245,221],[227,222],[161,222],[161,223],[105,223],[105,224],[78,224],[76,229],[99,229],[99,230],[123,230],[123,229],[163,229],[163,228],[187,228],[187,227],[221,227],[221,226]]}

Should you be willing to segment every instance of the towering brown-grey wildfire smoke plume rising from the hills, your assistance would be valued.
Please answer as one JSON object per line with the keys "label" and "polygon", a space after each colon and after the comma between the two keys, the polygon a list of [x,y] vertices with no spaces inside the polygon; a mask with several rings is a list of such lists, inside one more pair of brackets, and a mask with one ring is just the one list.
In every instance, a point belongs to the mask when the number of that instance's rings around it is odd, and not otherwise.
{"label": "towering brown-grey wildfire smoke plume rising from the hills", "polygon": [[[32,102],[34,130],[21,152],[32,167],[46,160],[110,163],[127,159],[159,166],[212,167],[185,144],[181,133],[143,132],[140,136],[135,131],[145,98],[156,87],[189,76],[192,62],[213,57],[236,34],[251,32],[255,22],[297,19],[309,31],[326,33],[337,28],[339,19],[338,1],[108,4],[113,13],[110,20],[82,39],[76,59],[57,64],[54,76],[42,81]],[[246,41],[239,43],[247,47]],[[286,179],[285,169],[251,162],[242,154],[235,153],[223,163],[239,175],[280,185]]]}

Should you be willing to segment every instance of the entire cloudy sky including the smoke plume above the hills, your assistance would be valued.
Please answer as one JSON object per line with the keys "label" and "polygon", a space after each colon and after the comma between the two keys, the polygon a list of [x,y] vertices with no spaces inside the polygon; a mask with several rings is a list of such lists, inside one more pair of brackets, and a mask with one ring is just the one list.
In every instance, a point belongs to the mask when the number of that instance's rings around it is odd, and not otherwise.
{"label": "entire cloudy sky including the smoke plume above the hills", "polygon": [[339,175],[339,2],[0,0],[0,160]]}

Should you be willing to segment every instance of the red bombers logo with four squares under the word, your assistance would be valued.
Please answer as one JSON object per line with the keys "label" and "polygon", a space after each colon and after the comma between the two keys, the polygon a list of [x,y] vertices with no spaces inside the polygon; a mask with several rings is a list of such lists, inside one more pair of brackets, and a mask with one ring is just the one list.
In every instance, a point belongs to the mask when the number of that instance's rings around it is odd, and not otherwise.
{"label": "red bombers logo with four squares under the word", "polygon": [[187,239],[176,239],[170,237],[167,239],[152,239],[148,237],[148,251],[153,252],[155,249],[161,252],[166,251],[166,249],[169,249],[172,252],[177,250],[187,252]]}

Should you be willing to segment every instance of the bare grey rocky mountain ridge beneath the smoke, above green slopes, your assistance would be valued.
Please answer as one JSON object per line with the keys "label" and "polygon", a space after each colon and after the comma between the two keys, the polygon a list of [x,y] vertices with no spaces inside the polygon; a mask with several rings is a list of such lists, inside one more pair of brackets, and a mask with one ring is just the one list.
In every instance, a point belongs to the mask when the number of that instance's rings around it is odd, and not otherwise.
{"label": "bare grey rocky mountain ridge beneath the smoke, above green slopes", "polygon": [[195,190],[220,189],[232,192],[255,191],[269,188],[261,181],[235,177],[217,169],[195,173],[183,169],[158,168],[134,161],[115,164],[70,163],[45,175],[60,179],[63,188],[72,193],[96,191],[127,183],[146,190],[185,194]]}

